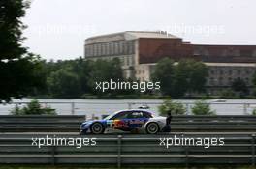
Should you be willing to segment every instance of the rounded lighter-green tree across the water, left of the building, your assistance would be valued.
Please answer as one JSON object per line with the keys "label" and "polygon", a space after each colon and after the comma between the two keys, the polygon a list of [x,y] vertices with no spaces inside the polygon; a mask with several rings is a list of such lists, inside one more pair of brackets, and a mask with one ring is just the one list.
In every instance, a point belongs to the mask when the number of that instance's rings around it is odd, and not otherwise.
{"label": "rounded lighter-green tree across the water, left of the building", "polygon": [[48,87],[50,94],[56,98],[77,98],[81,95],[79,77],[68,69],[51,72]]}

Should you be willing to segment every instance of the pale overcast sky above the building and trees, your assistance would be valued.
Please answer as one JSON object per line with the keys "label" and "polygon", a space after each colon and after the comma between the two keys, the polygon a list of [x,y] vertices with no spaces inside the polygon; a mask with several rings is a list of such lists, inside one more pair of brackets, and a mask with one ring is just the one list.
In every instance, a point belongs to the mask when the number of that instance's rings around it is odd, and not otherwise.
{"label": "pale overcast sky above the building and trees", "polygon": [[86,38],[122,31],[256,45],[255,7],[255,0],[33,0],[22,19],[24,46],[43,59],[75,59]]}

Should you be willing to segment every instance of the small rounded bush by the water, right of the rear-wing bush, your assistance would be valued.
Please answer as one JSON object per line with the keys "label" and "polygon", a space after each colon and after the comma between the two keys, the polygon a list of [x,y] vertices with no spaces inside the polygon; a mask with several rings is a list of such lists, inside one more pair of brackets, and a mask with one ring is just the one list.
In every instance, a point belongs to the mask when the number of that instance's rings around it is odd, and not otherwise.
{"label": "small rounded bush by the water, right of the rear-wing bush", "polygon": [[216,112],[210,109],[209,104],[205,100],[198,100],[192,107],[192,114],[194,115],[215,115]]}

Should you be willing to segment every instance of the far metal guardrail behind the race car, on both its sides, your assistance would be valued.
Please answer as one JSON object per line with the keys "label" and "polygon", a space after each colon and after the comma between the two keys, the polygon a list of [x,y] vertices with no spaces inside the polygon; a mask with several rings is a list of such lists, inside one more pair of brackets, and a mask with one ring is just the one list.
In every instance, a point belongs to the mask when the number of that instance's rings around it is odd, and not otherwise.
{"label": "far metal guardrail behind the race car, on both its sides", "polygon": [[[0,116],[0,132],[79,132],[84,116]],[[256,132],[256,116],[174,116],[172,132],[247,131]]]}

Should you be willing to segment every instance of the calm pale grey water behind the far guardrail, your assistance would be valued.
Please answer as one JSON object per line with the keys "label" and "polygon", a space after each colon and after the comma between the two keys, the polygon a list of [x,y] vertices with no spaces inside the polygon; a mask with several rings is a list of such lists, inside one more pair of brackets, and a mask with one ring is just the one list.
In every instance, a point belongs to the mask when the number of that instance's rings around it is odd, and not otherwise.
{"label": "calm pale grey water behind the far guardrail", "polygon": [[[14,102],[29,102],[31,99],[15,99]],[[39,99],[40,102],[48,102],[42,104],[42,106],[50,106],[56,109],[60,115],[72,114],[72,104],[70,102],[76,102],[74,107],[74,113],[76,115],[87,115],[87,117],[95,114],[96,116],[111,114],[114,111],[128,109],[128,102],[134,102],[131,104],[131,108],[138,108],[144,103],[149,106],[149,110],[158,113],[158,106],[162,103],[159,99],[122,99],[122,100],[106,100],[106,99]],[[188,114],[191,112],[191,107],[195,100],[182,99],[178,100],[184,103],[188,109]],[[61,102],[61,103],[59,103]],[[209,99],[208,103],[211,103],[210,107],[216,111],[219,115],[242,115],[249,114],[256,108],[256,99]],[[246,107],[244,108],[244,104]],[[24,104],[18,104],[23,106]],[[7,115],[15,107],[15,104],[0,105],[0,115]]]}

